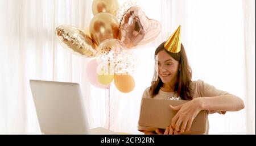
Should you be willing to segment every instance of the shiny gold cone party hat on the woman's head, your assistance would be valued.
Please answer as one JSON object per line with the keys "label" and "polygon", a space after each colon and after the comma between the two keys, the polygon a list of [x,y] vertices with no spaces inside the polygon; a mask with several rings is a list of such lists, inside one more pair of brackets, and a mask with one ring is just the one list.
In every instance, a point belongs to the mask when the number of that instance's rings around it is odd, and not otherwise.
{"label": "shiny gold cone party hat on the woman's head", "polygon": [[179,53],[180,52],[180,26],[177,30],[172,34],[169,39],[164,43],[164,48],[171,53]]}

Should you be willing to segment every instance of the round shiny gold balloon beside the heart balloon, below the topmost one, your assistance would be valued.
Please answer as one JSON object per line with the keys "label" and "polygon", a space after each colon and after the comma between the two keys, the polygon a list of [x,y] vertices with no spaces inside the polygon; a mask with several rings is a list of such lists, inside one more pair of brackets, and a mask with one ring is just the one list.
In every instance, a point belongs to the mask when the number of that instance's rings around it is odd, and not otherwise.
{"label": "round shiny gold balloon beside the heart balloon, below the topmost one", "polygon": [[118,34],[118,20],[108,12],[98,13],[90,21],[90,36],[96,45],[100,45],[106,39],[117,39]]}

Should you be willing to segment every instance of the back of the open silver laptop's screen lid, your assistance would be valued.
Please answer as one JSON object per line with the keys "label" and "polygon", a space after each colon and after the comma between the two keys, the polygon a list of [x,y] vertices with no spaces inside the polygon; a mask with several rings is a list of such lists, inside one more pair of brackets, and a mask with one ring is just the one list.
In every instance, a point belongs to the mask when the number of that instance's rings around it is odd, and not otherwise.
{"label": "back of the open silver laptop's screen lid", "polygon": [[89,134],[79,84],[30,80],[30,87],[43,134]]}

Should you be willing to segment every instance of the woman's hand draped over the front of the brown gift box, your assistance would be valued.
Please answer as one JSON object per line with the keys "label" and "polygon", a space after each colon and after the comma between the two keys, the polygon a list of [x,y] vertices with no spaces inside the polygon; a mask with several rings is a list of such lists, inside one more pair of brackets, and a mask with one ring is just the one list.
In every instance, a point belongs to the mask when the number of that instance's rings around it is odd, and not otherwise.
{"label": "woman's hand draped over the front of the brown gift box", "polygon": [[197,99],[193,99],[192,101],[183,103],[182,105],[179,105],[179,106],[170,105],[170,107],[172,110],[177,110],[177,114],[174,116],[174,118],[172,118],[171,126],[169,126],[173,128],[174,134],[188,132],[191,128],[193,120],[196,118],[197,114],[199,114],[199,112],[201,111],[201,105],[199,100]]}

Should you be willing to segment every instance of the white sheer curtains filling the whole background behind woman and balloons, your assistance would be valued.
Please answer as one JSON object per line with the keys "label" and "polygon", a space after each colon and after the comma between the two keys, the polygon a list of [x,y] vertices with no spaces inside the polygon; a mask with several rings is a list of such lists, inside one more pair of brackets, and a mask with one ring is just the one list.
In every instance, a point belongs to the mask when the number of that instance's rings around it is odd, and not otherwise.
{"label": "white sheer curtains filling the whole background behind woman and balloons", "polygon": [[109,111],[108,90],[91,86],[86,78],[89,59],[71,55],[54,34],[61,24],[88,27],[92,1],[0,0],[0,134],[40,133],[30,79],[79,82],[90,128],[141,134],[139,106],[153,76],[155,48],[179,24],[193,80],[200,78],[246,103],[245,110],[210,115],[210,134],[255,134],[255,1],[137,2],[148,18],[161,22],[162,32],[133,50],[138,57],[135,89],[123,94],[113,85]]}

